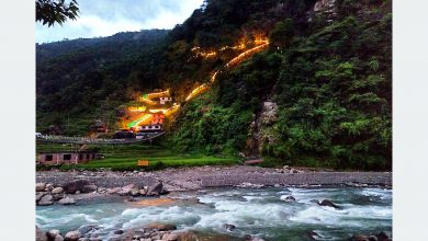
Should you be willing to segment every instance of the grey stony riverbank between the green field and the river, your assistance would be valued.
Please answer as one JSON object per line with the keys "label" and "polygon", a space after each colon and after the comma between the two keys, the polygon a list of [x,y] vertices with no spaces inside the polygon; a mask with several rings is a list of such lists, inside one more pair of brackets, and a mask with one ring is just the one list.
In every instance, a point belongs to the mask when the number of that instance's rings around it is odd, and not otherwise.
{"label": "grey stony riverbank between the green field and the river", "polygon": [[334,172],[307,168],[282,169],[249,165],[196,167],[166,169],[144,172],[102,171],[43,171],[36,172],[37,183],[64,183],[86,179],[104,188],[122,187],[128,184],[150,186],[157,182],[168,192],[196,191],[223,186],[383,186],[392,187],[391,172]]}

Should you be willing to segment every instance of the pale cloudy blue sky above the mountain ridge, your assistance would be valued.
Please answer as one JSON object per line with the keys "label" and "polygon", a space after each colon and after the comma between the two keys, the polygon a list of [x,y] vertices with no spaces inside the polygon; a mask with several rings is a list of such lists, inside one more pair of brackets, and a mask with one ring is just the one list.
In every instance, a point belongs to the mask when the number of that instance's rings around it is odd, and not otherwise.
{"label": "pale cloudy blue sky above the mountain ridge", "polygon": [[[66,2],[69,2],[66,1]],[[110,36],[119,32],[172,28],[181,24],[203,0],[77,0],[79,16],[60,26],[37,22],[35,42]]]}

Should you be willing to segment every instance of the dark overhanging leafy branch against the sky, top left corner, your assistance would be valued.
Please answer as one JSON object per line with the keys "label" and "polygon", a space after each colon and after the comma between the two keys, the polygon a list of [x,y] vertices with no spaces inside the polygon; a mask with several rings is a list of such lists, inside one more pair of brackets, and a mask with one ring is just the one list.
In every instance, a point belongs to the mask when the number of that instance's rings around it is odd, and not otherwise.
{"label": "dark overhanging leafy branch against the sky, top left corner", "polygon": [[71,0],[68,4],[65,0],[36,0],[35,5],[36,22],[40,21],[48,26],[55,23],[63,25],[67,20],[76,20],[79,12],[76,0]]}

